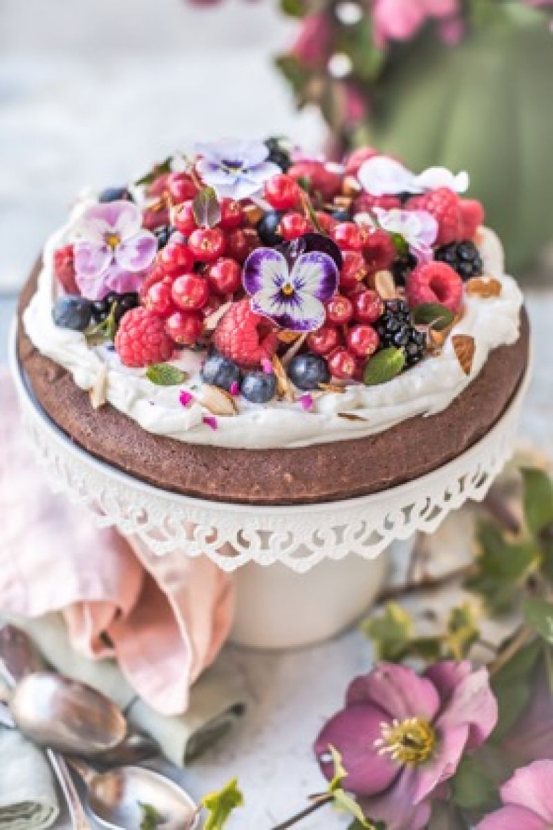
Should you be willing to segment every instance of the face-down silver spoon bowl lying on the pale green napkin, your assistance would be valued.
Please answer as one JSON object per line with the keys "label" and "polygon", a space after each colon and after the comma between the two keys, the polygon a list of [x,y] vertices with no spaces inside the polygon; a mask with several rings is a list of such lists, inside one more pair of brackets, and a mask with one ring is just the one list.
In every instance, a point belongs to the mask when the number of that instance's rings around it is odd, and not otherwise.
{"label": "face-down silver spoon bowl lying on the pale green napkin", "polygon": [[24,677],[10,709],[24,735],[62,753],[95,757],[113,750],[127,734],[124,716],[109,698],[49,671]]}

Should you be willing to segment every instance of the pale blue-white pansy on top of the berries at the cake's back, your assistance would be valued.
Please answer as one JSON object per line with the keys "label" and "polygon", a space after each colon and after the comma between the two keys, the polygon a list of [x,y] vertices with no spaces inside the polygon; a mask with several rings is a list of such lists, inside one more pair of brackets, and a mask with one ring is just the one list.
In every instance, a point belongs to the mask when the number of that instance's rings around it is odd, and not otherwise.
{"label": "pale blue-white pansy on top of the berries at the cake's back", "polygon": [[202,180],[219,198],[245,199],[260,193],[264,183],[282,173],[267,161],[269,148],[262,141],[227,140],[196,144],[196,162]]}

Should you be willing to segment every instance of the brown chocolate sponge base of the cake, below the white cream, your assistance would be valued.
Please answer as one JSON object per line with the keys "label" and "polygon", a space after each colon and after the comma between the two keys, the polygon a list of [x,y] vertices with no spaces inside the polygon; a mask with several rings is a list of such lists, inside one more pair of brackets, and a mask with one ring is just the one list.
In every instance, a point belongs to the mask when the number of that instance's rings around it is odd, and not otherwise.
{"label": "brown chocolate sponge base of the cake, below the white cream", "polygon": [[80,447],[138,479],[198,498],[298,505],[366,496],[435,470],[472,447],[497,422],[528,363],[526,312],[521,335],[495,349],[478,377],[443,412],[385,432],[298,449],[206,447],[145,432],[109,404],[95,410],[65,369],[40,354],[21,315],[36,291],[38,266],[19,303],[17,348],[41,406]]}

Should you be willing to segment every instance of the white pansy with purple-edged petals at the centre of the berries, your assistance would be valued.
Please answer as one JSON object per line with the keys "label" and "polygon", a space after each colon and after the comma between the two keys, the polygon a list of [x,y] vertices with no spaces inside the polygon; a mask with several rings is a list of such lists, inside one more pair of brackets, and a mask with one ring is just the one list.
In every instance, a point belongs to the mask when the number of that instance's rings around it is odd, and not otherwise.
{"label": "white pansy with purple-edged petals at the centre of the berries", "polygon": [[258,248],[248,256],[242,281],[251,308],[291,331],[314,331],[325,320],[323,303],[336,294],[338,269],[331,256],[309,251],[289,265],[274,248]]}

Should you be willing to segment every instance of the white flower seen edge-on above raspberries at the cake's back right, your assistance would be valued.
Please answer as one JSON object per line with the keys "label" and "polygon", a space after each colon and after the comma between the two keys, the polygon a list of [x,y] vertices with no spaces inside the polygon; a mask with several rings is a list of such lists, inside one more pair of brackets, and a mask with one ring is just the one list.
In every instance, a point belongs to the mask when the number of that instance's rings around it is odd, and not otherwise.
{"label": "white flower seen edge-on above raspberries at the cake's back right", "polygon": [[452,173],[445,167],[429,167],[419,175],[411,173],[403,164],[388,156],[378,155],[361,164],[357,177],[371,196],[390,196],[397,193],[425,193],[437,188],[449,188],[455,193],[468,190],[468,173]]}

